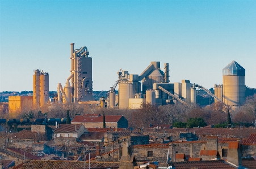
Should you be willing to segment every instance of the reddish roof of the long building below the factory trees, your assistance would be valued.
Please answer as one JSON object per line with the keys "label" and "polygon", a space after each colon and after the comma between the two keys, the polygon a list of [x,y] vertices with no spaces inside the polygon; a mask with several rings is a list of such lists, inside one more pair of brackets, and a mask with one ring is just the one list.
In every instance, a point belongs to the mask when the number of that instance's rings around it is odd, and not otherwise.
{"label": "reddish roof of the long building below the factory trees", "polygon": [[[117,123],[121,119],[121,115],[106,115],[106,123]],[[84,121],[85,120],[85,121]],[[86,116],[75,116],[71,123],[103,123],[103,116],[99,117],[86,117]]]}

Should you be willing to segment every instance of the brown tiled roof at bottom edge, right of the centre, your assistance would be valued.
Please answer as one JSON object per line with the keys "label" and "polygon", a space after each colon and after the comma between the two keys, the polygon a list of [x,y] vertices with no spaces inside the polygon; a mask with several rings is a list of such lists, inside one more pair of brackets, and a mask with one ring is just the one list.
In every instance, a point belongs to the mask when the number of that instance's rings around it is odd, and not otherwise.
{"label": "brown tiled roof at bottom edge, right of the centre", "polygon": [[176,169],[190,169],[196,167],[198,169],[234,169],[224,161],[191,161],[191,162],[177,162]]}

